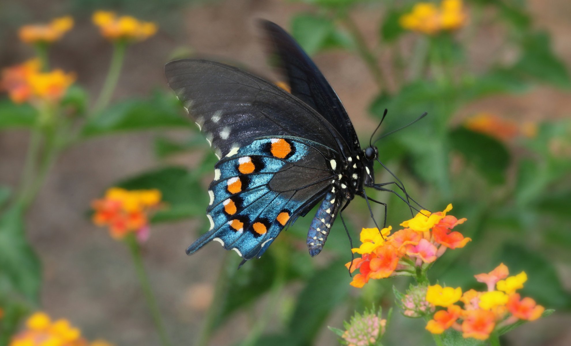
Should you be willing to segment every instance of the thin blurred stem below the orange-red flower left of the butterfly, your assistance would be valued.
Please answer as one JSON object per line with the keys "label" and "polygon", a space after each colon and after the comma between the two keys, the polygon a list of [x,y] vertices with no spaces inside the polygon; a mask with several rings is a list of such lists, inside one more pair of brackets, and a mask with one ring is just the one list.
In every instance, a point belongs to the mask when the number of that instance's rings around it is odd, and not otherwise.
{"label": "thin blurred stem below the orange-red flower left of the butterfly", "polygon": [[135,271],[139,277],[139,283],[143,289],[145,299],[147,300],[148,309],[151,312],[152,319],[155,323],[156,331],[159,333],[160,341],[163,346],[170,346],[170,341],[168,340],[167,333],[164,329],[164,324],[162,317],[160,316],[159,306],[156,303],[154,294],[152,293],[151,284],[148,280],[146,271],[144,270],[143,258],[140,253],[139,243],[135,238],[134,234],[130,234],[126,237],[126,242],[131,251],[131,256],[133,258],[133,263],[135,264]]}

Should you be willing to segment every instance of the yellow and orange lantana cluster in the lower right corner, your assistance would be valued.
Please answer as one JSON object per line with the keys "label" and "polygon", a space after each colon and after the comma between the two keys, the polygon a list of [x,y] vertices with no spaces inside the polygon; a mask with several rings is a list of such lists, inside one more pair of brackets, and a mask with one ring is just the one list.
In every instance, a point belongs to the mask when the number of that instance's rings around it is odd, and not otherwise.
{"label": "yellow and orange lantana cluster in the lower right corner", "polygon": [[509,276],[508,267],[502,263],[493,271],[475,277],[486,284],[487,291],[470,289],[463,293],[460,287],[428,287],[427,303],[445,308],[437,311],[428,321],[426,329],[429,332],[441,334],[453,328],[465,338],[486,340],[500,328],[519,320],[537,320],[545,311],[532,298],[522,299],[517,293],[528,279],[525,272]]}

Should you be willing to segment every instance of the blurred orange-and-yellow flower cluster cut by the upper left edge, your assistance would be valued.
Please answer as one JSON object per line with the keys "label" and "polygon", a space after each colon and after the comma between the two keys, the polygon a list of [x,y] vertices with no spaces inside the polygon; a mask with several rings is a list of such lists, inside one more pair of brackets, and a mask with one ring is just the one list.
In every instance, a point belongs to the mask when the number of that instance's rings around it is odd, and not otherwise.
{"label": "blurred orange-and-yellow flower cluster cut by the upper left edge", "polygon": [[65,73],[59,69],[42,72],[39,60],[31,59],[21,65],[4,69],[0,90],[7,91],[15,103],[37,100],[57,102],[74,81],[73,73]]}

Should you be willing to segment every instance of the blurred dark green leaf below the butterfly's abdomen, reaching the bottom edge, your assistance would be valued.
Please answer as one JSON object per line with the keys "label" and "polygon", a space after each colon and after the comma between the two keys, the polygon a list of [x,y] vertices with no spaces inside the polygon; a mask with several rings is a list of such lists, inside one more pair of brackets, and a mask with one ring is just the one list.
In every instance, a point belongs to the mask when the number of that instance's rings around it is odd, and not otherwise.
{"label": "blurred dark green leaf below the butterfly's abdomen, reaching the bottom edge", "polygon": [[312,344],[329,314],[347,297],[351,286],[343,264],[334,261],[317,271],[299,293],[289,331],[301,344]]}

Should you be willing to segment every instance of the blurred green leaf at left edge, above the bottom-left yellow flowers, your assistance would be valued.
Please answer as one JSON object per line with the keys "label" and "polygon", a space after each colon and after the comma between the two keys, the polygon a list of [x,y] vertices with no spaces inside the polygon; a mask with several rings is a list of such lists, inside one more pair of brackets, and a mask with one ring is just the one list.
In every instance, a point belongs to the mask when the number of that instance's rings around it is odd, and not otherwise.
{"label": "blurred green leaf at left edge, above the bottom-left yellow flowers", "polygon": [[22,295],[38,303],[41,267],[24,232],[20,208],[7,210],[0,217],[0,295]]}

